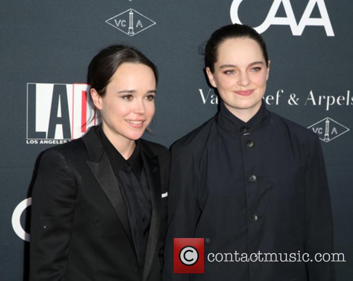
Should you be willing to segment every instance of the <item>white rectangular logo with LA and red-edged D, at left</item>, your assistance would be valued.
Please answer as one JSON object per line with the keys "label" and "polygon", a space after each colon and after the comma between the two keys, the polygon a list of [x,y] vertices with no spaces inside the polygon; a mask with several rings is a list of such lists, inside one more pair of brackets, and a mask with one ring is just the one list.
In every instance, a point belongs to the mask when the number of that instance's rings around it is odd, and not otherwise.
{"label": "white rectangular logo with LA and red-edged D, at left", "polygon": [[88,84],[27,83],[27,144],[64,143],[98,124]]}

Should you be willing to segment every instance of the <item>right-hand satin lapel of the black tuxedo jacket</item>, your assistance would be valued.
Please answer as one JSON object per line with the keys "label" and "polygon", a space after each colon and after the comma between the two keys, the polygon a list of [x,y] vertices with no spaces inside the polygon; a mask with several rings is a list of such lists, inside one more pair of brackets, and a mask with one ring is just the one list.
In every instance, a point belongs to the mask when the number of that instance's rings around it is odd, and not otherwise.
{"label": "right-hand satin lapel of the black tuxedo jacket", "polygon": [[143,140],[141,140],[141,156],[146,170],[147,183],[149,186],[152,203],[151,224],[146,247],[145,264],[143,268],[143,280],[147,280],[159,239],[161,182],[158,157],[152,152],[148,145],[144,143]]}

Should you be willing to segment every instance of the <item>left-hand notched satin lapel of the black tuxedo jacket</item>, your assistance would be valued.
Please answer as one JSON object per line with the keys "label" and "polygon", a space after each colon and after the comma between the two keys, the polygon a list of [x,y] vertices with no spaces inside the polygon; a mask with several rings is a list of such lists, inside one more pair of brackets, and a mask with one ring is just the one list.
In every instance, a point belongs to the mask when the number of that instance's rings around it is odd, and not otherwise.
{"label": "left-hand notched satin lapel of the black tuxedo jacket", "polygon": [[129,218],[119,184],[117,183],[108,156],[104,152],[102,144],[95,133],[96,128],[96,126],[92,127],[83,137],[83,141],[86,144],[88,154],[90,156],[90,160],[86,160],[86,163],[90,167],[92,174],[113,206],[116,214],[119,216],[125,232],[129,237],[130,243],[133,248],[135,248],[132,240]]}

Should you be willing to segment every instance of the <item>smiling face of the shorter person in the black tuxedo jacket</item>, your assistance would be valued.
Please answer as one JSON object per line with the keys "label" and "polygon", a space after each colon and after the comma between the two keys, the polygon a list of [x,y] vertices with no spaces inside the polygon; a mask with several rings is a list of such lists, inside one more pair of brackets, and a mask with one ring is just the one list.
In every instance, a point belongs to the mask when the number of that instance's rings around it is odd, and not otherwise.
{"label": "smiling face of the shorter person in the black tuxedo jacket", "polygon": [[103,97],[91,89],[107,138],[114,141],[139,139],[152,121],[155,93],[152,69],[134,63],[123,63],[115,71]]}

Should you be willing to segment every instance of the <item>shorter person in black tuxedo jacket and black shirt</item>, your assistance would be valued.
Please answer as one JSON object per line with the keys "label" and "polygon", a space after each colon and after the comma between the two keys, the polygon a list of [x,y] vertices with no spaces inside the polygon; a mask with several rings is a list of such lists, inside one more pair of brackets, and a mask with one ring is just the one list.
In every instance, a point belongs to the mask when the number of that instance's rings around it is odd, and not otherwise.
{"label": "shorter person in black tuxedo jacket and black shirt", "polygon": [[156,67],[114,45],[88,76],[101,125],[40,159],[30,280],[159,280],[169,152],[140,139],[154,115]]}

